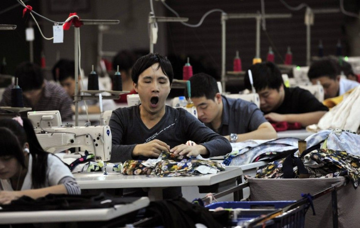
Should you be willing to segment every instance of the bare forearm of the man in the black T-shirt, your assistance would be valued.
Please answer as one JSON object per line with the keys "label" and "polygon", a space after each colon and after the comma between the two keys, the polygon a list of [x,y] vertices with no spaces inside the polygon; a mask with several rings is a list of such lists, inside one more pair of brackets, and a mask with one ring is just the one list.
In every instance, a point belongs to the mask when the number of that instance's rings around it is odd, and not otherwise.
{"label": "bare forearm of the man in the black T-shirt", "polygon": [[321,117],[325,115],[326,111],[316,111],[301,114],[278,114],[271,112],[265,115],[265,118],[273,122],[288,122],[288,123],[300,123],[306,127],[311,124],[317,124]]}

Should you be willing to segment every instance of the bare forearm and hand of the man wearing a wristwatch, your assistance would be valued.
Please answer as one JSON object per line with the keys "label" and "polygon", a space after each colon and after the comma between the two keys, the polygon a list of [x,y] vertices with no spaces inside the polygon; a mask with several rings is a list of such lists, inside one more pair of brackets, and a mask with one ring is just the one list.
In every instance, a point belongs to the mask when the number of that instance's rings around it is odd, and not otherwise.
{"label": "bare forearm and hand of the man wearing a wristwatch", "polygon": [[[226,135],[225,138],[229,139],[229,135]],[[264,122],[260,124],[260,126],[251,132],[238,134],[238,139],[236,142],[243,142],[250,139],[276,139],[277,134],[275,129],[269,122]]]}

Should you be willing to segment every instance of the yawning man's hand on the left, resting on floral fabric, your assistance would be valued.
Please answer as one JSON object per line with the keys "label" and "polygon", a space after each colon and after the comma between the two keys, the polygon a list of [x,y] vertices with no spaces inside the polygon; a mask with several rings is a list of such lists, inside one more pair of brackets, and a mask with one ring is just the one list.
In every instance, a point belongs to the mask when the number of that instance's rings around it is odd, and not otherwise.
{"label": "yawning man's hand on the left, resting on floral fabric", "polygon": [[161,151],[169,152],[169,150],[170,150],[169,145],[158,139],[154,139],[148,143],[136,145],[133,150],[133,155],[134,156],[143,155],[145,157],[157,158],[160,155]]}

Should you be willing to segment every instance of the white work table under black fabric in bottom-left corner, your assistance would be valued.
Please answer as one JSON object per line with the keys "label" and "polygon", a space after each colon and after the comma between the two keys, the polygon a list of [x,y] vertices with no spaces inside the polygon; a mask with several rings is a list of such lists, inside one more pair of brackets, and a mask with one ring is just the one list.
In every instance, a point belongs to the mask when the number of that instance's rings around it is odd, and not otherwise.
{"label": "white work table under black fabric in bottom-left corner", "polygon": [[149,203],[148,197],[141,197],[133,203],[109,208],[0,212],[0,224],[109,221]]}

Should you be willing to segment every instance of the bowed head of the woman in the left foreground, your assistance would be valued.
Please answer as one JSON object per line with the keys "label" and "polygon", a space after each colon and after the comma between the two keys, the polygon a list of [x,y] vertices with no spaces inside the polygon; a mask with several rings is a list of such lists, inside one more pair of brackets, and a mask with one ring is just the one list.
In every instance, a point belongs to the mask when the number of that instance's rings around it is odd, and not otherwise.
{"label": "bowed head of the woman in the left foreground", "polygon": [[1,119],[0,137],[0,179],[9,179],[25,167],[26,133],[17,121]]}

